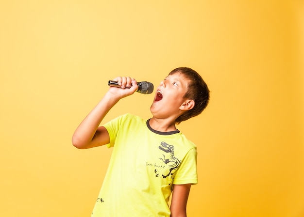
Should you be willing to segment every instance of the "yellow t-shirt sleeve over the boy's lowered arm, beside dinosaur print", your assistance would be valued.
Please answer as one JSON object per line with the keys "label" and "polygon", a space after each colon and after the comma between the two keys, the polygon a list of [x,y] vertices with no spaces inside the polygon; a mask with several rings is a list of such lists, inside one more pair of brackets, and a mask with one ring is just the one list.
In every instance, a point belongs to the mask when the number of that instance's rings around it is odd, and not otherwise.
{"label": "yellow t-shirt sleeve over the boy's lowered arm, beside dinosaur print", "polygon": [[192,148],[188,151],[180,167],[176,171],[175,177],[173,179],[173,184],[174,185],[198,184],[196,162],[197,162],[197,151],[196,148]]}

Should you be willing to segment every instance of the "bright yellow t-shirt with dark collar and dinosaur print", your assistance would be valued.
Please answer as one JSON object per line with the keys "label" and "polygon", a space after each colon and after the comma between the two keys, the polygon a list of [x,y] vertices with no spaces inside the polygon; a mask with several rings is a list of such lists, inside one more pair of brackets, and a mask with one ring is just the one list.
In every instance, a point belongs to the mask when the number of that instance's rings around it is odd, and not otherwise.
{"label": "bright yellow t-shirt with dark collar and dinosaur print", "polygon": [[198,183],[195,144],[131,114],[104,126],[113,153],[92,217],[170,217],[172,186]]}

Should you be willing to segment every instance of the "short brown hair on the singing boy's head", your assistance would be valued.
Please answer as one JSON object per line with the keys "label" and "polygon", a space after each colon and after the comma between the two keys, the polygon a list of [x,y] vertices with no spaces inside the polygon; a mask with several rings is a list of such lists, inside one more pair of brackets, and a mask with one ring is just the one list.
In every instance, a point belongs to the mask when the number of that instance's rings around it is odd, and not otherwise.
{"label": "short brown hair on the singing boy's head", "polygon": [[176,124],[180,124],[189,118],[201,114],[203,109],[207,107],[209,102],[209,89],[200,74],[191,68],[179,67],[173,69],[169,75],[173,75],[175,73],[180,73],[189,80],[187,91],[183,98],[192,99],[195,102],[195,106],[192,109],[184,112],[175,120]]}

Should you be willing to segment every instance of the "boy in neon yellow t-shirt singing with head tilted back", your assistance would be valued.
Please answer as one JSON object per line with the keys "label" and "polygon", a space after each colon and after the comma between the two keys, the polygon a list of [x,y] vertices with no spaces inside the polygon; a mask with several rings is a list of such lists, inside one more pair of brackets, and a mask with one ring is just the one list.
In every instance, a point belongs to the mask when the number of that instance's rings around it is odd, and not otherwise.
{"label": "boy in neon yellow t-shirt singing with head tilted back", "polygon": [[151,119],[125,114],[99,126],[119,99],[138,89],[134,78],[114,80],[121,88],[110,87],[72,137],[80,149],[114,147],[92,217],[186,217],[197,152],[175,125],[206,108],[206,83],[194,70],[176,68],[156,90]]}

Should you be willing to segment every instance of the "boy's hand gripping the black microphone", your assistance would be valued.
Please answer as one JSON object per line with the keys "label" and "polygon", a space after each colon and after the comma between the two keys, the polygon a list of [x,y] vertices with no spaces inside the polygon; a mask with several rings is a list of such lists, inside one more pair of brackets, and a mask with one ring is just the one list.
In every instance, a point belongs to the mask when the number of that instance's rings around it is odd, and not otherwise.
{"label": "boy's hand gripping the black microphone", "polygon": [[113,80],[118,81],[118,85],[121,88],[118,87],[110,87],[109,93],[112,93],[113,95],[117,96],[118,98],[123,98],[129,95],[132,95],[135,93],[135,91],[138,90],[137,82],[134,78],[130,77],[117,77]]}

